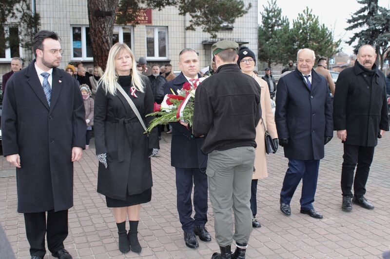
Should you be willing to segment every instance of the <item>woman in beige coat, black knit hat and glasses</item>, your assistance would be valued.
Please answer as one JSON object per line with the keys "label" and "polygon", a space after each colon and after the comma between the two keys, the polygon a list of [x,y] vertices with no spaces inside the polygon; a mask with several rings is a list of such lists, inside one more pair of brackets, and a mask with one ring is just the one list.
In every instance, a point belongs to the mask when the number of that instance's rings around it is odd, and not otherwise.
{"label": "woman in beige coat, black knit hat and glasses", "polygon": [[[243,73],[252,76],[261,88],[261,96],[260,96],[260,106],[261,106],[261,114],[263,121],[265,123],[265,127],[268,133],[273,138],[273,142],[277,147],[277,132],[275,120],[273,118],[273,112],[271,107],[271,96],[270,90],[268,89],[267,82],[263,79],[259,78],[254,74],[254,65],[256,64],[256,57],[254,52],[249,50],[246,47],[241,47],[238,52],[238,60],[237,64],[242,70]],[[252,191],[251,191],[251,210],[252,210],[252,226],[253,227],[261,227],[261,224],[256,219],[257,214],[257,202],[256,202],[256,193],[257,193],[257,180],[262,179],[268,176],[267,173],[267,161],[266,161],[266,153],[265,153],[265,131],[263,123],[260,122],[256,127],[256,156],[254,159],[254,173],[252,176]]]}

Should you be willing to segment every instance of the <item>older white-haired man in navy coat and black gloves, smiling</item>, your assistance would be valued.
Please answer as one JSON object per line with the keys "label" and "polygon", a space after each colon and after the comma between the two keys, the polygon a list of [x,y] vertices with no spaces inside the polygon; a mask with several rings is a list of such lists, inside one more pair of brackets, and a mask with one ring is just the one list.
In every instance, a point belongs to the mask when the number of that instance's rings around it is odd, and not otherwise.
{"label": "older white-haired man in navy coat and black gloves, smiling", "polygon": [[300,212],[322,219],[312,203],[324,145],[333,136],[331,97],[326,79],[312,69],[314,52],[299,50],[297,59],[297,69],[279,80],[276,91],[276,129],[279,144],[289,158],[280,192],[280,210],[291,214],[290,201],[302,179]]}

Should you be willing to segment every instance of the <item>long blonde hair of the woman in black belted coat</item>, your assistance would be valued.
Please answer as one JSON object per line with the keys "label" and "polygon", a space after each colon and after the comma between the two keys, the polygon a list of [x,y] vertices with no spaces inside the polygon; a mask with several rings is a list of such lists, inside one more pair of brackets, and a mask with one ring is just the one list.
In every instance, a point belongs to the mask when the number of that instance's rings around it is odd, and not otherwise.
{"label": "long blonde hair of the woman in black belted coat", "polygon": [[119,42],[115,43],[114,46],[111,47],[110,52],[108,53],[106,70],[104,71],[102,77],[100,77],[99,79],[98,87],[103,87],[106,93],[109,92],[112,95],[116,95],[118,75],[117,70],[115,68],[115,59],[122,52],[129,53],[132,59],[132,67],[130,69],[132,86],[135,86],[137,91],[144,92],[145,86],[144,82],[141,79],[141,75],[136,69],[137,62],[135,56],[125,43]]}

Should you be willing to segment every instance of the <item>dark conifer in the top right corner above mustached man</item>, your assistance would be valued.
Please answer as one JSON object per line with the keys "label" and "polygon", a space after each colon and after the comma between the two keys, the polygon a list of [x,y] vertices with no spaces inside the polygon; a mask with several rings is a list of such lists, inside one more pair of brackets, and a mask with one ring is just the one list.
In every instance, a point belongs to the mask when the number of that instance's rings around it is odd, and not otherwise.
{"label": "dark conifer in the top right corner above mustached man", "polygon": [[357,10],[350,19],[347,20],[349,27],[347,31],[360,29],[347,41],[349,45],[354,45],[354,52],[357,53],[360,46],[370,44],[378,54],[377,63],[383,68],[385,54],[390,50],[390,10],[378,5],[378,0],[358,0],[364,6]]}

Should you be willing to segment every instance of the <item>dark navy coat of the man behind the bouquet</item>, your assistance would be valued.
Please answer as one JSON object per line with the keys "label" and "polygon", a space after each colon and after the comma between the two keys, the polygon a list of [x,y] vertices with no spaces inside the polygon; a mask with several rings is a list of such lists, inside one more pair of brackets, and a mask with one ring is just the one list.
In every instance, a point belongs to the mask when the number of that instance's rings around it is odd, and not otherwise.
{"label": "dark navy coat of the man behind the bouquet", "polygon": [[[200,77],[200,74],[198,74]],[[164,94],[176,93],[183,87],[187,79],[180,73],[164,87]],[[170,123],[172,126],[171,165],[179,168],[206,168],[207,155],[200,150],[204,138],[195,138],[189,129],[179,122]]]}

